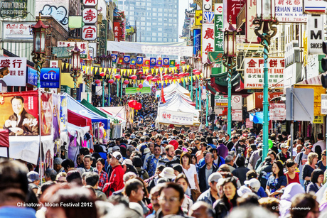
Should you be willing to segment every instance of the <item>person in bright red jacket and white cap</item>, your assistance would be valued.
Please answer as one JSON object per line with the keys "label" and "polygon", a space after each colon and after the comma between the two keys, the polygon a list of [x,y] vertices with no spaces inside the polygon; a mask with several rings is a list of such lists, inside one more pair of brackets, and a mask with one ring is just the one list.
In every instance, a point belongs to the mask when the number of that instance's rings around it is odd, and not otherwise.
{"label": "person in bright red jacket and white cap", "polygon": [[104,184],[103,192],[109,197],[112,192],[122,190],[124,188],[124,170],[120,163],[122,162],[122,154],[118,151],[112,153],[112,158],[110,159],[110,165],[112,166],[112,174],[110,175],[109,182]]}

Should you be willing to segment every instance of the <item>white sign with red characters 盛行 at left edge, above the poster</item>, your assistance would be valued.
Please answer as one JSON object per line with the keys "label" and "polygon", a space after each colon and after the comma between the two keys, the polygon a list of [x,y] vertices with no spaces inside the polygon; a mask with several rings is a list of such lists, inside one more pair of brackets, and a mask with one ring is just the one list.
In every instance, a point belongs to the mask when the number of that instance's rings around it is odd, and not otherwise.
{"label": "white sign with red characters \u76db\u884c at left edge, above the poster", "polygon": [[3,80],[7,86],[26,86],[26,58],[0,58],[0,69],[8,67],[9,74]]}

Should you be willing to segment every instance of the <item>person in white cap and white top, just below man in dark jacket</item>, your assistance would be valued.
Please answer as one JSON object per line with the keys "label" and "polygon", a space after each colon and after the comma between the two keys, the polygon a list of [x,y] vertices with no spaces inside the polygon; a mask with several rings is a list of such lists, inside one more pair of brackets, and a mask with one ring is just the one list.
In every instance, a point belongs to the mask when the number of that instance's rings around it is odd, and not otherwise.
{"label": "person in white cap and white top, just below man in dark jacket", "polygon": [[213,205],[213,199],[219,199],[217,183],[220,178],[223,178],[223,176],[218,172],[212,173],[209,176],[208,184],[210,187],[198,197],[198,201],[207,202],[209,205]]}

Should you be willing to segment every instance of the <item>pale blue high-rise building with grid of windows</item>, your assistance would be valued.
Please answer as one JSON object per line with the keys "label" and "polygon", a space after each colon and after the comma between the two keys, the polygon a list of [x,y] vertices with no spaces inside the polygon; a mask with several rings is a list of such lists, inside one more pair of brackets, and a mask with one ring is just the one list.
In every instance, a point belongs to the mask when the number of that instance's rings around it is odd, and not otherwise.
{"label": "pale blue high-rise building with grid of windows", "polygon": [[130,25],[136,21],[137,42],[178,42],[178,0],[116,1]]}

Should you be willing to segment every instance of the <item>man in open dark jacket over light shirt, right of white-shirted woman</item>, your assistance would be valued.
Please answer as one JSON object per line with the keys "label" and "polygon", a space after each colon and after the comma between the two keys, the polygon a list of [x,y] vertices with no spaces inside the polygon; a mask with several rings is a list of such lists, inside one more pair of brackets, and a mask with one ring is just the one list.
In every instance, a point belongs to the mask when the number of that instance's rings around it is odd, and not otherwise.
{"label": "man in open dark jacket over light shirt, right of white-shirted woman", "polygon": [[208,184],[208,178],[212,173],[217,171],[217,166],[213,164],[213,153],[208,152],[205,155],[205,165],[199,169],[199,187],[201,192],[205,192],[210,187]]}

